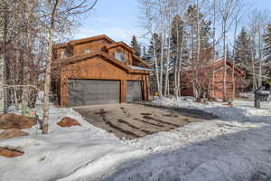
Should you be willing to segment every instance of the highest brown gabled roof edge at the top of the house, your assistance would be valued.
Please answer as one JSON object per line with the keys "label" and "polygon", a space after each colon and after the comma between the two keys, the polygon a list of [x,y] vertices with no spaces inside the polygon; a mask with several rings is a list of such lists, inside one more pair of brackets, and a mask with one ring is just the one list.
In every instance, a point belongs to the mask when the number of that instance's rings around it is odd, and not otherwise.
{"label": "highest brown gabled roof edge at the top of the house", "polygon": [[54,45],[54,48],[61,48],[61,47],[65,47],[67,46],[68,44],[79,44],[79,43],[89,43],[89,42],[92,42],[92,41],[98,41],[98,40],[107,40],[109,43],[116,43],[114,40],[112,40],[111,38],[109,38],[106,34],[101,34],[101,35],[98,35],[98,36],[92,36],[92,37],[89,37],[89,38],[83,38],[83,39],[79,39],[79,40],[73,40],[73,41],[70,41],[69,43],[58,43],[58,44],[55,44]]}

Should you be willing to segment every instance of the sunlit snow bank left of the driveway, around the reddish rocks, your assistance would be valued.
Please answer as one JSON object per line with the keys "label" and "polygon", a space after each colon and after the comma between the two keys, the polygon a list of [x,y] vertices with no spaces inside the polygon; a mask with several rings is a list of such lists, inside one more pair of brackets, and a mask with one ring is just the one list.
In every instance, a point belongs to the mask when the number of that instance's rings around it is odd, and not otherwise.
{"label": "sunlit snow bank left of the driveway, around the reddish rocks", "polygon": [[[42,118],[42,108],[37,109]],[[77,119],[80,127],[61,128],[63,117]],[[31,136],[0,141],[0,147],[21,148],[22,157],[0,157],[0,180],[72,180],[117,166],[145,151],[127,146],[113,134],[98,129],[72,109],[50,109],[48,135],[40,126],[25,129]],[[126,154],[127,153],[127,154]]]}

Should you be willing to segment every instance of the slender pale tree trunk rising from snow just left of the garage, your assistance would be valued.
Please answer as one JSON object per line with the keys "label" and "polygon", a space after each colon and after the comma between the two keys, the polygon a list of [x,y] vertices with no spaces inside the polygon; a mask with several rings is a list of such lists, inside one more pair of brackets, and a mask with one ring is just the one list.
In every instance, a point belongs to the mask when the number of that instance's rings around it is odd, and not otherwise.
{"label": "slender pale tree trunk rising from snow just left of the garage", "polygon": [[42,118],[42,133],[48,134],[48,119],[49,119],[49,94],[51,89],[51,62],[52,62],[52,38],[54,31],[54,18],[57,13],[57,8],[59,1],[56,0],[55,5],[52,8],[51,13],[51,24],[49,29],[49,40],[48,40],[48,65],[45,72],[45,82],[44,82],[44,100],[43,100],[43,118]]}

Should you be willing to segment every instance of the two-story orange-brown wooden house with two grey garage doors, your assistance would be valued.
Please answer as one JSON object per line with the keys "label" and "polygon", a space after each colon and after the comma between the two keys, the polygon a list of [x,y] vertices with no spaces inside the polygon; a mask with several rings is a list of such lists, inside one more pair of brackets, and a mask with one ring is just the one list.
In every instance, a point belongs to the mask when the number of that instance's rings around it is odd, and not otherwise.
{"label": "two-story orange-brown wooden house with two grey garage doors", "polygon": [[53,46],[52,89],[62,107],[148,100],[150,65],[106,35]]}

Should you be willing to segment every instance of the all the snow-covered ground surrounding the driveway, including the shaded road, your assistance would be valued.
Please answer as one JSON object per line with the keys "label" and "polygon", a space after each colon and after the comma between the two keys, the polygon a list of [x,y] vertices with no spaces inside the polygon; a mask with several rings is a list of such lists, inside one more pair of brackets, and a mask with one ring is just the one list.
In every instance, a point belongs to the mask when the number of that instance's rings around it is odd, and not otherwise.
{"label": "all the snow-covered ground surrounding the driveway, including the shaded road", "polygon": [[[0,141],[20,147],[22,157],[0,157],[0,180],[271,180],[271,102],[195,103],[191,99],[155,104],[204,110],[220,119],[194,122],[169,132],[119,140],[70,109],[51,108],[49,135],[38,126],[31,136]],[[41,115],[42,112],[38,111]],[[63,129],[61,117],[82,127]]]}

